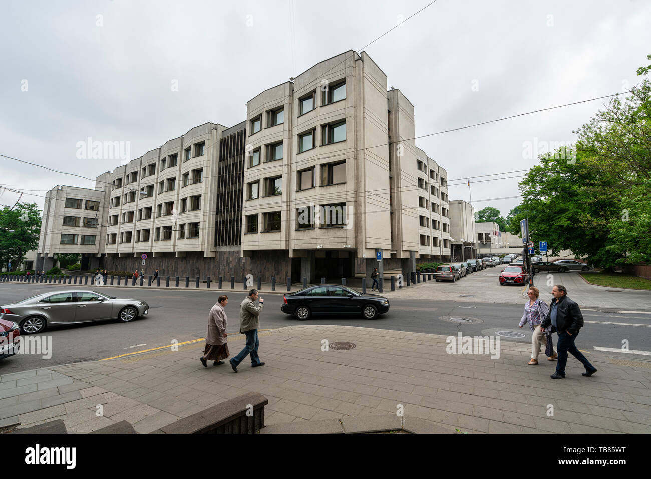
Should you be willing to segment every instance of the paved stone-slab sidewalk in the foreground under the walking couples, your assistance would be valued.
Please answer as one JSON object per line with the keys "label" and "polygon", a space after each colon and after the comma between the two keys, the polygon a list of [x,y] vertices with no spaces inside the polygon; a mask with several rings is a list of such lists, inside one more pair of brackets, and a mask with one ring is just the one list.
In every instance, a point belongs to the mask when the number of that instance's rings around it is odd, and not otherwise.
{"label": "paved stone-slab sidewalk in the foreground under the walking couples", "polygon": [[[354,349],[323,351],[323,341]],[[229,336],[231,355],[243,335]],[[529,345],[501,342],[499,359],[451,355],[446,336],[342,326],[291,326],[260,333],[266,366],[245,361],[203,368],[202,341],[108,361],[0,376],[0,426],[62,419],[85,433],[127,420],[148,433],[240,396],[268,398],[268,426],[393,415],[467,433],[651,433],[651,362],[589,353],[582,377],[570,357],[527,366]],[[20,357],[16,358],[20,361]],[[553,416],[548,416],[553,407]],[[345,424],[345,421],[344,421]],[[286,430],[281,429],[281,430]],[[269,431],[273,431],[270,428]]]}

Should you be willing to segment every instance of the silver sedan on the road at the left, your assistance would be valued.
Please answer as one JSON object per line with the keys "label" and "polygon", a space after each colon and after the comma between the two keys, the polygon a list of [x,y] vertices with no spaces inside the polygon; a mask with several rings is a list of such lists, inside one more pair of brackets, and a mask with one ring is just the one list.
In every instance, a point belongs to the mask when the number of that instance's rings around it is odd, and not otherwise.
{"label": "silver sedan on the road at the left", "polygon": [[36,334],[46,326],[102,320],[130,322],[145,316],[149,305],[139,299],[118,299],[96,291],[59,291],[39,294],[0,306],[0,320],[20,325],[23,334]]}

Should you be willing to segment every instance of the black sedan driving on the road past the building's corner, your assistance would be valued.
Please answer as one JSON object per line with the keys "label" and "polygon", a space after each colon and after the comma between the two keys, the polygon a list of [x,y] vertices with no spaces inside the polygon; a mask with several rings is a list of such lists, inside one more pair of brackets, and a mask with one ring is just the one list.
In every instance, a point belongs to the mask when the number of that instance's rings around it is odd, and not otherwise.
{"label": "black sedan driving on the road past the building's corner", "polygon": [[294,314],[298,320],[309,320],[312,314],[361,314],[367,320],[389,310],[389,300],[377,294],[362,294],[346,286],[319,284],[283,296],[281,311]]}

